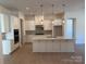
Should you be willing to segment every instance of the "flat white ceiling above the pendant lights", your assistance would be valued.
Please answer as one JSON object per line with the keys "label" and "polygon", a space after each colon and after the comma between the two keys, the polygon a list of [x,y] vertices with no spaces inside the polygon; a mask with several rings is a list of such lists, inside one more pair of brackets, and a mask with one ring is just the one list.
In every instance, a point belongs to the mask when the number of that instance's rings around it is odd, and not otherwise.
{"label": "flat white ceiling above the pendant lights", "polygon": [[44,14],[51,14],[52,4],[54,4],[54,13],[60,13],[63,11],[62,4],[65,4],[64,10],[82,10],[85,3],[84,0],[0,0],[0,4],[11,10],[22,11],[26,15],[38,15],[41,14],[40,4],[44,5]]}

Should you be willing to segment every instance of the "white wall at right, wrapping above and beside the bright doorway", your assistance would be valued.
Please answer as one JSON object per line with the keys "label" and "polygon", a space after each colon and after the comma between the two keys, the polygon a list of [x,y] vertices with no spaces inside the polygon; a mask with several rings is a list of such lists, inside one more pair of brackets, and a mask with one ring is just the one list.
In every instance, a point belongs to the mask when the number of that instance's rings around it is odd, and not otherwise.
{"label": "white wall at right, wrapping above and beside the bright doorway", "polygon": [[65,12],[65,21],[67,18],[76,18],[76,43],[85,42],[85,11],[66,11]]}

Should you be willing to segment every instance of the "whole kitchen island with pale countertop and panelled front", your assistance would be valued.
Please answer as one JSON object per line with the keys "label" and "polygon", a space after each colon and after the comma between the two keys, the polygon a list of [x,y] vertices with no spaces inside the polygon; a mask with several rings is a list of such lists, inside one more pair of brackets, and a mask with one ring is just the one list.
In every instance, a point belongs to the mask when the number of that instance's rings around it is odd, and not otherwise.
{"label": "whole kitchen island with pale countertop and panelled front", "polygon": [[33,52],[74,52],[75,39],[66,37],[37,36],[33,38]]}

